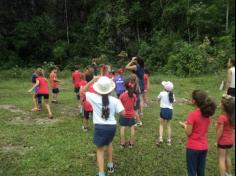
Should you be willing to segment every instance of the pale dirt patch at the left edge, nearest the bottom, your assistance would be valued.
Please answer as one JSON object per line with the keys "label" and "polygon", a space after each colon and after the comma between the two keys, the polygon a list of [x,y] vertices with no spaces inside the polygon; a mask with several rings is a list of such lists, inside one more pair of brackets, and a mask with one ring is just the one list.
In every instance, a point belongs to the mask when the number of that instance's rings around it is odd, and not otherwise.
{"label": "pale dirt patch at the left edge, nearest the bottom", "polygon": [[7,152],[7,153],[12,153],[12,152],[16,152],[19,153],[20,155],[25,155],[29,150],[32,150],[33,147],[28,147],[28,146],[24,146],[24,145],[3,145],[0,146],[0,150],[2,150],[3,152]]}

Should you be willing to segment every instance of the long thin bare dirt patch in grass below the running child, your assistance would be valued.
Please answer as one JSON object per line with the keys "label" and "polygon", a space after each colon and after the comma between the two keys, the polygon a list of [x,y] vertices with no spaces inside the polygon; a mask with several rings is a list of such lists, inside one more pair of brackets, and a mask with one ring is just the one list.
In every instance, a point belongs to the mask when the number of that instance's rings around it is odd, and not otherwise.
{"label": "long thin bare dirt patch in grass below the running child", "polygon": [[9,123],[18,125],[45,125],[45,124],[54,124],[61,121],[60,119],[48,119],[48,118],[31,118],[31,117],[15,117]]}

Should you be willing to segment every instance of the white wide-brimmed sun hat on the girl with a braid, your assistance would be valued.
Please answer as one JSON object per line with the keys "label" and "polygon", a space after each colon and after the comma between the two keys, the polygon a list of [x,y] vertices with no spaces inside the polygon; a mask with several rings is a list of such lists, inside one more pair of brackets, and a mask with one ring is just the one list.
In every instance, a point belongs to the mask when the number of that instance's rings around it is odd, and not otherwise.
{"label": "white wide-brimmed sun hat on the girl with a braid", "polygon": [[99,80],[93,85],[94,90],[101,95],[111,93],[115,87],[115,83],[106,76],[99,78]]}

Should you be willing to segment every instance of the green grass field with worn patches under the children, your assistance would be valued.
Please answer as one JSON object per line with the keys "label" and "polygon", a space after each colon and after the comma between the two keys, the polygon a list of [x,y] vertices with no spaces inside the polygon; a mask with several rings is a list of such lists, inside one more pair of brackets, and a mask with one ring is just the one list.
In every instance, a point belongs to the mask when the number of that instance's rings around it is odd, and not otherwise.
{"label": "green grass field with worn patches under the children", "polygon": [[[115,176],[186,176],[186,136],[178,122],[185,120],[193,107],[184,103],[194,89],[204,89],[220,102],[223,92],[219,85],[223,74],[176,78],[152,77],[151,105],[145,109],[144,126],[137,128],[133,149],[119,147],[119,133],[114,140]],[[175,105],[173,120],[173,146],[155,145],[159,125],[159,105],[155,102],[162,80],[175,84],[179,100]],[[64,79],[59,97],[60,104],[52,105],[55,119],[48,120],[47,112],[30,112],[31,95],[27,90],[30,80],[0,80],[0,176],[94,176],[97,172],[93,128],[84,133],[82,120],[76,108],[71,82]],[[45,108],[44,108],[45,109]],[[215,121],[209,132],[210,149],[206,176],[218,176]],[[235,150],[232,151],[235,163]]]}

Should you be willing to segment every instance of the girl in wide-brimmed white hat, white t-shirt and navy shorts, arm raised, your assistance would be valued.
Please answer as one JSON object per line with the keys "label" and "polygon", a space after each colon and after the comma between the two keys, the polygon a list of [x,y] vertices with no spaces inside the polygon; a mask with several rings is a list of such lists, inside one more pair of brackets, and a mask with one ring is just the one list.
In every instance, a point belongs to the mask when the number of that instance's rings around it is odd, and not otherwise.
{"label": "girl in wide-brimmed white hat, white t-shirt and navy shorts, arm raised", "polygon": [[[96,93],[87,92],[92,85]],[[104,150],[106,146],[108,146],[109,158],[108,172],[114,172],[112,141],[116,133],[115,114],[124,111],[120,100],[109,96],[114,89],[115,83],[107,77],[95,77],[82,89],[82,93],[85,93],[87,101],[93,107],[94,144],[97,146],[98,176],[105,176]]]}

